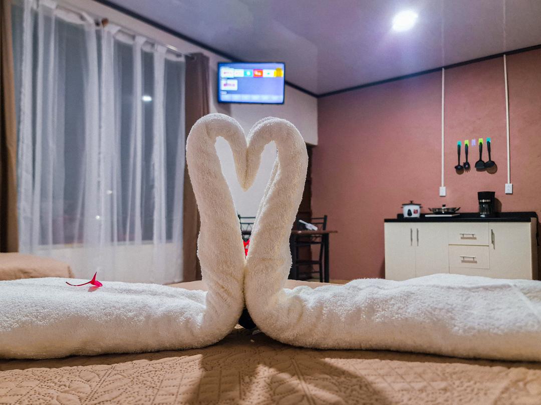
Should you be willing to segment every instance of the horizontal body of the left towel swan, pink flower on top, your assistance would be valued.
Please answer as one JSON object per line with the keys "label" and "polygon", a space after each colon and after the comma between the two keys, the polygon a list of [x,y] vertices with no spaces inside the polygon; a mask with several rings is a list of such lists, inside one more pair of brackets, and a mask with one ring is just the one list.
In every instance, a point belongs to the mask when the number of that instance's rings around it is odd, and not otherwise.
{"label": "horizontal body of the left towel swan, pink flower on top", "polygon": [[[65,281],[0,282],[0,357],[151,352],[203,347],[223,337],[225,326],[207,326],[206,292],[124,282],[71,287]],[[223,315],[229,332],[237,314],[224,306]]]}

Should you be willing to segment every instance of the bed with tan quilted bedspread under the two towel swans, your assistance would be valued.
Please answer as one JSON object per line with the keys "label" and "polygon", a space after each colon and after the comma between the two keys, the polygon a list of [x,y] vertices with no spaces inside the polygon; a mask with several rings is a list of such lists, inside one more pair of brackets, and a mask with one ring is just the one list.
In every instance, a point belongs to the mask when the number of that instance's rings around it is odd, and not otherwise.
{"label": "bed with tan quilted bedspread under the two towel swans", "polygon": [[539,404],[541,363],[295,348],[237,326],[204,349],[0,360],[0,403]]}

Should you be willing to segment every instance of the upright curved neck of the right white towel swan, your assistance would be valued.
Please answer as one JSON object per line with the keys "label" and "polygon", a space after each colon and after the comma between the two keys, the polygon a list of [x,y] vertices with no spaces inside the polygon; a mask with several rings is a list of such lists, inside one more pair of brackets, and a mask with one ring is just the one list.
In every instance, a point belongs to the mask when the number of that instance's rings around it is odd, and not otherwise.
{"label": "upright curved neck of the right white towel swan", "polygon": [[278,154],[250,238],[245,299],[258,327],[278,339],[279,320],[286,316],[290,305],[282,287],[291,268],[289,237],[304,192],[308,154],[301,134],[286,120],[261,120],[251,135],[249,152],[252,146],[255,149],[274,141]]}

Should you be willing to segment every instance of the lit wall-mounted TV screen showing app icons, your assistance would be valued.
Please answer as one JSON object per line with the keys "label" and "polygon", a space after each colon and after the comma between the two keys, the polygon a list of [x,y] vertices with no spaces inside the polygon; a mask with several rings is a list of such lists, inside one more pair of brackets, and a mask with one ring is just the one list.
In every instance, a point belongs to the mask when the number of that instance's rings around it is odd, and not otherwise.
{"label": "lit wall-mounted TV screen showing app icons", "polygon": [[283,104],[283,63],[218,64],[218,102]]}

